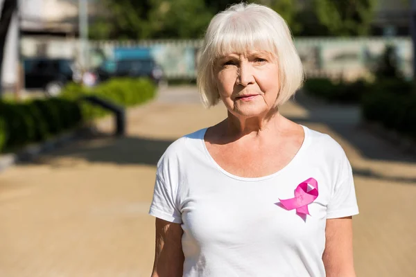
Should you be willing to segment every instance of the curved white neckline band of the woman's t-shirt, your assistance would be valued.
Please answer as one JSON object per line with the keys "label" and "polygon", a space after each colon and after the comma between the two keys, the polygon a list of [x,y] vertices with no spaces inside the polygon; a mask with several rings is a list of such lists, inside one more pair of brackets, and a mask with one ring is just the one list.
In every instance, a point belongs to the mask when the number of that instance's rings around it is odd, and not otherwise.
{"label": "curved white neckline band of the woman's t-shirt", "polygon": [[307,144],[309,143],[309,129],[308,129],[308,127],[306,127],[304,125],[300,125],[300,126],[302,126],[302,128],[304,129],[304,141],[302,142],[302,145],[300,145],[300,148],[299,148],[299,150],[297,150],[297,153],[295,154],[293,159],[291,159],[291,161],[289,161],[289,163],[286,166],[284,166],[284,168],[281,168],[277,172],[274,172],[270,175],[266,175],[266,176],[262,176],[262,177],[240,177],[240,176],[234,175],[234,174],[228,172],[227,170],[223,169],[215,161],[215,159],[211,156],[211,154],[209,154],[209,151],[207,149],[207,145],[205,145],[205,134],[207,132],[208,127],[201,130],[199,139],[200,139],[200,143],[202,143],[202,148],[203,148],[205,154],[207,155],[207,158],[209,159],[209,161],[212,164],[214,164],[214,166],[220,172],[223,172],[224,175],[227,175],[227,177],[230,177],[232,179],[236,179],[236,180],[239,180],[239,181],[262,181],[262,180],[270,179],[272,177],[276,177],[277,175],[280,175],[281,172],[284,172],[284,171],[288,170],[288,168],[291,168],[291,166],[293,166],[293,163],[296,163],[296,161],[302,157],[302,154],[303,154]]}

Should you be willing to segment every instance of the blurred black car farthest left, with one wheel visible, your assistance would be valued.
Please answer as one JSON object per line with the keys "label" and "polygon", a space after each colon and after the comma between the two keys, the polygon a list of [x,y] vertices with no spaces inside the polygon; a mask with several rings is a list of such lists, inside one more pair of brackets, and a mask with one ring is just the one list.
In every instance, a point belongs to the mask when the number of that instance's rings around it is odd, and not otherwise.
{"label": "blurred black car farthest left, with one wheel visible", "polygon": [[43,89],[49,96],[56,96],[67,82],[76,78],[73,60],[36,57],[24,60],[26,89]]}

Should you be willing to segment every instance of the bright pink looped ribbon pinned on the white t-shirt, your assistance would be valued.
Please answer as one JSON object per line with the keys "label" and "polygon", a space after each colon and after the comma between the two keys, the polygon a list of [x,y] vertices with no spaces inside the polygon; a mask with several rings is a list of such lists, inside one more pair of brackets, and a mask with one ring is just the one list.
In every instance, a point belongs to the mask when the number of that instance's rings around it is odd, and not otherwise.
{"label": "bright pink looped ribbon pinned on the white t-shirt", "polygon": [[[308,184],[313,188],[308,191]],[[310,215],[308,205],[311,204],[318,197],[318,181],[313,178],[309,178],[297,185],[295,189],[295,197],[290,199],[280,199],[281,205],[286,210],[296,209],[297,213],[303,213],[304,215]]]}

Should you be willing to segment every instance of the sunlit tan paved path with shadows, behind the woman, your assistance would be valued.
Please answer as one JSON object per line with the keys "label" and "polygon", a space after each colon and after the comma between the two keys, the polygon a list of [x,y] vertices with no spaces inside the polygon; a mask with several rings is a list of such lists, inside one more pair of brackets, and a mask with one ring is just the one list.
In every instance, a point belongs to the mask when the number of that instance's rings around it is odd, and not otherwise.
{"label": "sunlit tan paved path with shadows, behind the woman", "polygon": [[[416,157],[359,127],[354,107],[296,100],[282,113],[331,134],[352,162],[358,276],[416,276]],[[169,89],[129,111],[125,138],[80,141],[2,172],[0,276],[149,276],[155,163],[173,140],[224,116],[202,109],[193,87]]]}

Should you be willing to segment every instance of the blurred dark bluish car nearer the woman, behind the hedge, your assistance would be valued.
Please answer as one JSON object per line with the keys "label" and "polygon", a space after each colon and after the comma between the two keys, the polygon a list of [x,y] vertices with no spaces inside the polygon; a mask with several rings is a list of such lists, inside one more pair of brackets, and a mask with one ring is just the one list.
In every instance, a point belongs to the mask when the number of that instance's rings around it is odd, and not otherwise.
{"label": "blurred dark bluish car nearer the woman, behind the hedge", "polygon": [[160,84],[164,80],[162,68],[152,59],[106,60],[96,69],[98,80],[105,81],[114,77],[148,77]]}

